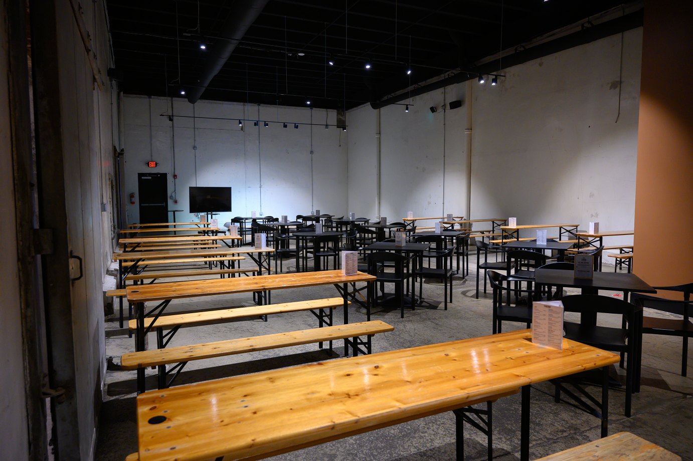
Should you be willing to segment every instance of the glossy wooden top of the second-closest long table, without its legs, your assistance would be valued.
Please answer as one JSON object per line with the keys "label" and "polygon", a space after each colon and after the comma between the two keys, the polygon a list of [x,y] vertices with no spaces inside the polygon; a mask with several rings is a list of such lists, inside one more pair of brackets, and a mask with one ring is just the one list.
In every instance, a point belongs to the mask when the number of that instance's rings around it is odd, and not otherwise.
{"label": "glossy wooden top of the second-closest long table, without its legs", "polygon": [[374,280],[376,280],[374,275],[363,272],[357,272],[354,275],[343,275],[341,270],[277,273],[244,278],[218,278],[213,280],[187,280],[185,282],[131,285],[127,287],[127,293],[128,301],[130,302],[148,302],[285,288],[317,287],[328,284],[373,282]]}

